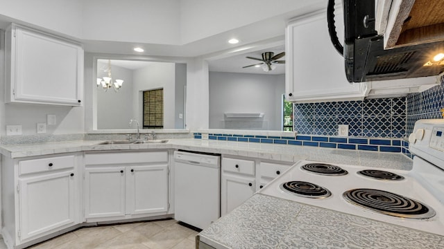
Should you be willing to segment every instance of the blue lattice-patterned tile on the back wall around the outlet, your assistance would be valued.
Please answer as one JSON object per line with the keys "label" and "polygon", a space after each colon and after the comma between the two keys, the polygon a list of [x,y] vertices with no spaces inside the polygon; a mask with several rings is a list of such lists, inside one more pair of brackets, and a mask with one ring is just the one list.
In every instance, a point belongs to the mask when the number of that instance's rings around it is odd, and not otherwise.
{"label": "blue lattice-patterned tile on the back wall around the outlet", "polygon": [[337,136],[338,124],[349,125],[349,136],[406,136],[406,98],[294,104],[293,129],[300,134]]}

